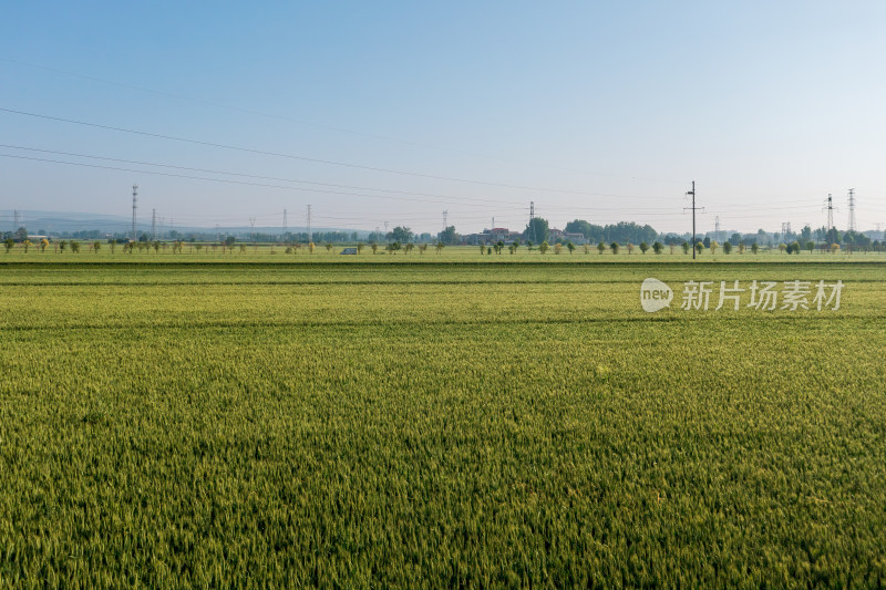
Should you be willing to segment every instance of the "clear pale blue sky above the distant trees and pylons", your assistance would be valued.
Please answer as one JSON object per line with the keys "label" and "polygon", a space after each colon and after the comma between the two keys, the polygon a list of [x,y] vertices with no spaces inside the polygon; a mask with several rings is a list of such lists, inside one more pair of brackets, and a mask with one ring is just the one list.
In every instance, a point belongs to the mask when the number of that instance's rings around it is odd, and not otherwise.
{"label": "clear pale blue sky above the distant trees and pylons", "polygon": [[128,215],[137,183],[176,225],[311,204],[315,226],[445,209],[472,232],[534,201],[682,232],[694,179],[701,232],[818,227],[828,193],[845,228],[849,188],[873,229],[884,31],[882,1],[3,2],[0,210]]}

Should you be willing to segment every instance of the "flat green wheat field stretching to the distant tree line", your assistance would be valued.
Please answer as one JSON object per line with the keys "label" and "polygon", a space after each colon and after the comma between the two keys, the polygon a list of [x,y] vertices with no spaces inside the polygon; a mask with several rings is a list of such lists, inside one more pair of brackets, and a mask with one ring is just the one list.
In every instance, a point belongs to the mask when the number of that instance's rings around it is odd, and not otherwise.
{"label": "flat green wheat field stretching to the distant tree line", "polygon": [[0,587],[886,584],[882,256],[32,251],[0,306]]}

